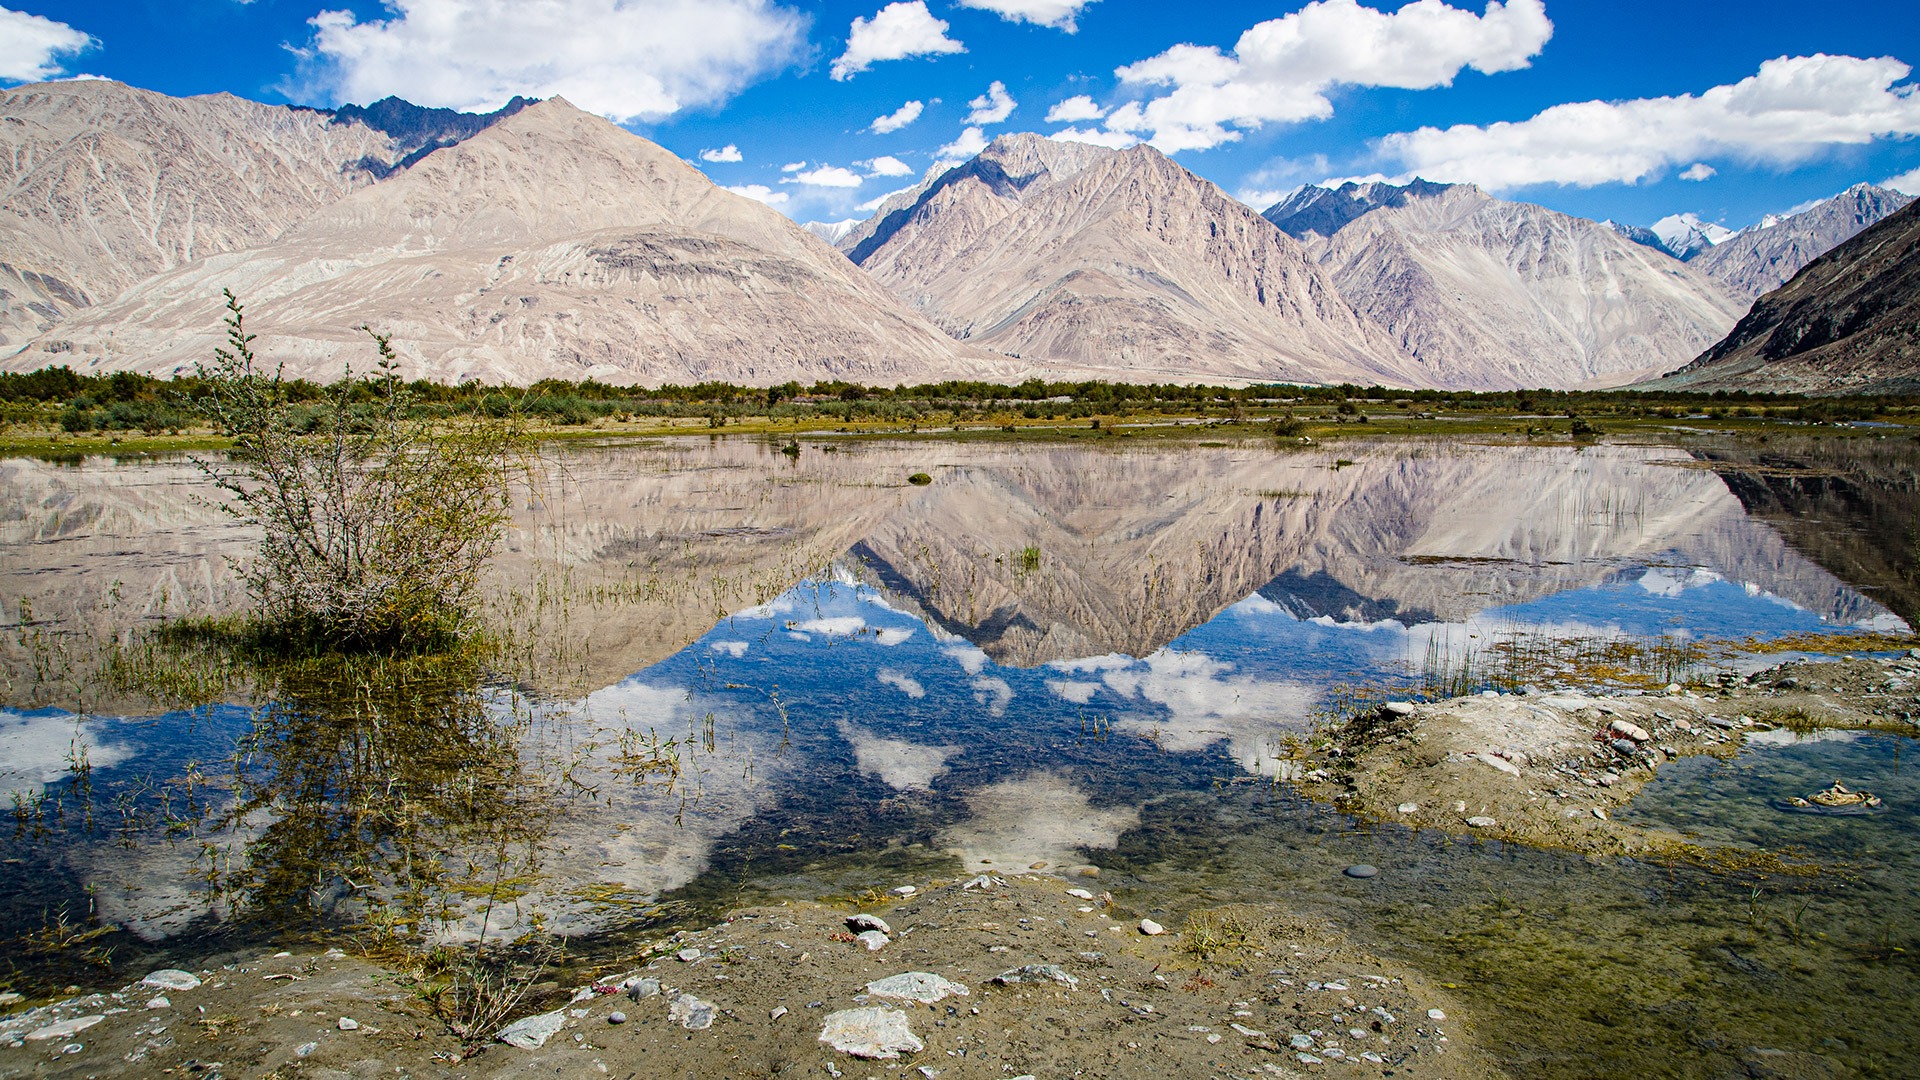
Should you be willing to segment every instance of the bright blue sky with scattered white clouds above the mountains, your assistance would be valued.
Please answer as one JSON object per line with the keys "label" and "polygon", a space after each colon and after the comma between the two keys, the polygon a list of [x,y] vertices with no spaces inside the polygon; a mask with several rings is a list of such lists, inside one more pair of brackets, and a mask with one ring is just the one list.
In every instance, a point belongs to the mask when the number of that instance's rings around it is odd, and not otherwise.
{"label": "bright blue sky with scattered white clouds above the mountains", "polygon": [[1427,175],[1740,227],[1859,181],[1920,192],[1910,0],[0,4],[12,83],[451,108],[559,92],[803,221],[864,217],[981,138],[1068,129],[1154,142],[1254,206]]}

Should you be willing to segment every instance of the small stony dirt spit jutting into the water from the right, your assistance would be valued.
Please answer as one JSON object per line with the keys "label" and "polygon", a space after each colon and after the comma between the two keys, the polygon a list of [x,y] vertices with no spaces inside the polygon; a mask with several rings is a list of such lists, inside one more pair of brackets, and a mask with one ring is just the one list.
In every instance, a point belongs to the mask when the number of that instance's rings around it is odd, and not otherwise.
{"label": "small stony dirt spit jutting into the water from the right", "polygon": [[1331,728],[1298,767],[1309,796],[1369,819],[1596,855],[1699,853],[1615,819],[1663,763],[1780,728],[1912,734],[1914,717],[1920,657],[1797,659],[1659,696],[1396,701]]}

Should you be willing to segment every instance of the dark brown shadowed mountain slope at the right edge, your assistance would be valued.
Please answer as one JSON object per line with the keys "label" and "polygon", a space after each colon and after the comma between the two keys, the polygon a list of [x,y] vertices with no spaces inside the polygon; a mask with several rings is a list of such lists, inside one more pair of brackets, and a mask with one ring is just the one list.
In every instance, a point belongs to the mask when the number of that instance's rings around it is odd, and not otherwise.
{"label": "dark brown shadowed mountain slope at the right edge", "polygon": [[1920,202],[1807,263],[1653,388],[1912,394],[1920,390]]}

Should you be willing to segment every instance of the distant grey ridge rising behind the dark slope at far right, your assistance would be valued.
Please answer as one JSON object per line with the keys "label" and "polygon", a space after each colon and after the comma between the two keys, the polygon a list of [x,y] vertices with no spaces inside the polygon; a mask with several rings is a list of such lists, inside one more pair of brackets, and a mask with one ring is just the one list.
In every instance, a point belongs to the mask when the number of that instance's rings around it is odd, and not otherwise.
{"label": "distant grey ridge rising behind the dark slope at far right", "polygon": [[1912,196],[1855,184],[1799,213],[1770,217],[1720,238],[1693,258],[1693,267],[1718,281],[1736,300],[1757,300],[1908,202]]}

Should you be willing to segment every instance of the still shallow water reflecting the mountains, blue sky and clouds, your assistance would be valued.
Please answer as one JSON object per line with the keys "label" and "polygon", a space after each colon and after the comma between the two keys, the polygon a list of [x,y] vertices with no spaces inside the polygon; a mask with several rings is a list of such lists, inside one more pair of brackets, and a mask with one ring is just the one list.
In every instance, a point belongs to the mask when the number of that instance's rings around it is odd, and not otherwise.
{"label": "still shallow water reflecting the mountains, blue sky and clouds", "polygon": [[[1169,915],[1323,911],[1496,1007],[1528,1072],[1636,1074],[1661,1053],[1715,1074],[1784,1042],[1899,1074],[1887,997],[1849,986],[1912,999],[1912,924],[1882,913],[1910,909],[1914,819],[1836,828],[1747,798],[1878,778],[1822,755],[1880,744],[1763,748],[1724,776],[1682,763],[1649,788],[1638,813],[1857,865],[1759,886],[1359,826],[1261,782],[1281,740],[1434,650],[1899,625],[1686,465],[1419,444],[1340,469],[1265,448],[576,454],[503,559],[503,592],[557,598],[503,605],[513,678],[6,713],[25,809],[0,884],[17,920],[94,907],[192,949],[223,922],[620,934],[743,896],[1094,863]],[[221,553],[244,538],[180,498],[179,469],[0,469],[25,507],[8,580],[35,611],[83,625],[111,590],[125,626],[228,601]],[[918,469],[937,482],[904,486]],[[440,723],[396,726],[409,715]],[[1713,794],[1668,794],[1686,784]],[[1382,874],[1340,876],[1354,861]]]}

